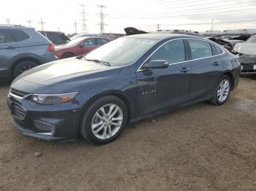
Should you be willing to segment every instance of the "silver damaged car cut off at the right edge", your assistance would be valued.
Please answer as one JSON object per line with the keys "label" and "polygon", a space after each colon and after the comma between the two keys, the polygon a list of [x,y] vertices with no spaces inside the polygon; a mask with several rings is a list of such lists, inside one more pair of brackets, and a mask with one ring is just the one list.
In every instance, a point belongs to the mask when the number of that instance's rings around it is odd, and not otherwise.
{"label": "silver damaged car cut off at the right edge", "polygon": [[237,43],[234,52],[240,55],[241,73],[256,73],[256,35],[244,43]]}

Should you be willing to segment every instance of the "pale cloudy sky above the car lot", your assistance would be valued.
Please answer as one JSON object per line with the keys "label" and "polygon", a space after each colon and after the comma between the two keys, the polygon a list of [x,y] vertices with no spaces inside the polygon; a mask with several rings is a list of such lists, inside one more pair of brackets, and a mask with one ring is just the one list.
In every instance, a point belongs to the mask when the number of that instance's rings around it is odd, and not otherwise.
{"label": "pale cloudy sky above the car lot", "polygon": [[45,31],[81,32],[82,7],[85,4],[86,26],[91,34],[99,33],[98,5],[105,5],[105,32],[124,33],[133,26],[145,31],[187,29],[193,31],[256,28],[256,0],[1,0],[0,23],[31,26]]}

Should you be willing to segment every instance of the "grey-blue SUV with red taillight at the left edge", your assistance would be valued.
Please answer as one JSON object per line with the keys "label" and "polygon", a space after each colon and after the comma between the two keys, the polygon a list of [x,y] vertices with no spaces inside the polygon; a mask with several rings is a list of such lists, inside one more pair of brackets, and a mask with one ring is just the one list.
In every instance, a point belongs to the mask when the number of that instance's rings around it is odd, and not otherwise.
{"label": "grey-blue SUV with red taillight at the left edge", "polygon": [[18,77],[28,69],[55,61],[54,45],[34,28],[0,25],[0,77]]}

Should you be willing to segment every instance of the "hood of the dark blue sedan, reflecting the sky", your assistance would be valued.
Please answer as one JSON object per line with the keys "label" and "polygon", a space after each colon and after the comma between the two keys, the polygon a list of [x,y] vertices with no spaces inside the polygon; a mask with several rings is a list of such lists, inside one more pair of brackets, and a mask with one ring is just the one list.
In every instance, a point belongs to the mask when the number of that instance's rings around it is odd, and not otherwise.
{"label": "hood of the dark blue sedan, reflecting the sky", "polygon": [[23,80],[37,85],[72,85],[75,87],[80,83],[86,84],[86,82],[95,82],[97,79],[112,77],[118,74],[119,70],[117,67],[104,66],[92,61],[68,58],[25,71],[12,84]]}

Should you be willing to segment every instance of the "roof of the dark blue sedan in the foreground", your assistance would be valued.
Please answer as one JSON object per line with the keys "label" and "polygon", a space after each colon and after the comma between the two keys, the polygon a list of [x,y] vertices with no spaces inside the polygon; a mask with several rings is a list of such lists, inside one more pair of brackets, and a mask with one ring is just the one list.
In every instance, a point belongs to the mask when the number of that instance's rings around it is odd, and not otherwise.
{"label": "roof of the dark blue sedan in the foreground", "polygon": [[170,39],[170,38],[194,38],[194,39],[202,39],[201,37],[187,35],[187,34],[162,34],[162,33],[154,33],[154,34],[134,34],[127,36],[128,38],[140,38],[140,39]]}

